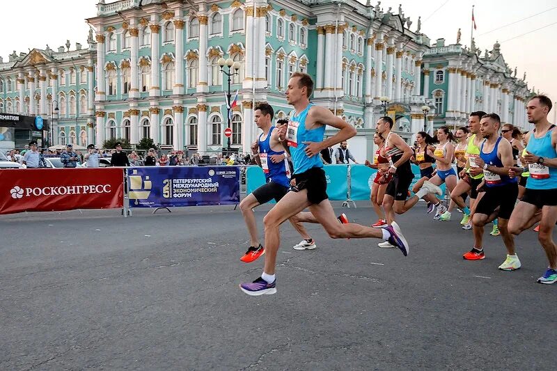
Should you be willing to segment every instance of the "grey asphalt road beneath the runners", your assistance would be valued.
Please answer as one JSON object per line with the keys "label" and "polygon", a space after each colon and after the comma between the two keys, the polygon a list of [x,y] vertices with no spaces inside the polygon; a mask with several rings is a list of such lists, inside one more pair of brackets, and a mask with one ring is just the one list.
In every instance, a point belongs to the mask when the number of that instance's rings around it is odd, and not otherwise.
{"label": "grey asphalt road beneath the runners", "polygon": [[[345,212],[370,223],[363,205]],[[557,285],[535,282],[547,260],[534,232],[517,238],[522,268],[503,272],[499,237],[464,261],[461,215],[435,222],[421,204],[399,219],[407,258],[317,225],[317,248],[295,251],[285,225],[277,294],[248,297],[237,285],[262,261],[240,262],[232,209],[0,216],[0,370],[555,367]]]}

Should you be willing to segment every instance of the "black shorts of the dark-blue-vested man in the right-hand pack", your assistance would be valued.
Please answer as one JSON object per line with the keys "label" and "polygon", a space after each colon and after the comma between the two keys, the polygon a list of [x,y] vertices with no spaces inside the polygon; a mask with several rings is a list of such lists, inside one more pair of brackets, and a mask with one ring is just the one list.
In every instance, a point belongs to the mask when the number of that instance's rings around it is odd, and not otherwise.
{"label": "black shorts of the dark-blue-vested man in the right-hand pack", "polygon": [[515,203],[518,197],[518,184],[511,183],[499,187],[486,187],[485,195],[476,205],[476,213],[490,215],[499,207],[501,219],[510,219],[512,210],[515,210]]}

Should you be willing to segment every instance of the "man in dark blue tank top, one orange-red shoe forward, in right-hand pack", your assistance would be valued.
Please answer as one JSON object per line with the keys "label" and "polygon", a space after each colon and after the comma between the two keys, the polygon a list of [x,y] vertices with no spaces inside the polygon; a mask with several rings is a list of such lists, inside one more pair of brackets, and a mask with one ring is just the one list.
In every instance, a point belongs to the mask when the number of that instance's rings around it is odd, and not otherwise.
{"label": "man in dark blue tank top, one orange-red shoe forward, in right-hand pack", "polygon": [[518,195],[516,177],[509,177],[509,168],[512,168],[512,147],[508,141],[499,136],[501,119],[495,113],[482,117],[480,122],[481,133],[485,139],[480,145],[480,156],[476,157],[478,167],[471,168],[470,174],[484,173],[486,187],[485,195],[478,200],[476,212],[472,217],[474,246],[468,253],[462,255],[465,260],[482,260],[483,252],[483,227],[499,218],[499,230],[503,243],[507,248],[507,258],[499,269],[514,271],[520,268],[520,260],[515,254],[515,239],[508,230],[510,214],[515,208]]}

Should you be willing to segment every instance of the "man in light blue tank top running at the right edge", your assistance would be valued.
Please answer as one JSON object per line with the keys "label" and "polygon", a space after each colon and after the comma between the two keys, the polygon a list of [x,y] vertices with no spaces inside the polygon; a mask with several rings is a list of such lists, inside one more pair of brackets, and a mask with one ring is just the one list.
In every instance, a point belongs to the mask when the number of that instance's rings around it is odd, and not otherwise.
{"label": "man in light blue tank top running at the right edge", "polygon": [[557,246],[552,238],[557,222],[557,127],[547,120],[551,106],[551,100],[545,95],[536,95],[526,104],[528,123],[535,125],[525,137],[528,144],[523,163],[528,164],[528,168],[509,171],[510,176],[530,171],[524,196],[510,217],[509,230],[519,235],[538,223],[541,216],[538,241],[547,255],[549,267],[538,282],[545,284],[557,282]]}

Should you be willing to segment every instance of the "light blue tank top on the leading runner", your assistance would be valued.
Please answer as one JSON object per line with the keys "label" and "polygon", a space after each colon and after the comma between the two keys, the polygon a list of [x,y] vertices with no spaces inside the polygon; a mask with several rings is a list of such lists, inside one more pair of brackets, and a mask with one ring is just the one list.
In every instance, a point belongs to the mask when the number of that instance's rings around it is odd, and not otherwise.
{"label": "light blue tank top on the leading runner", "polygon": [[298,116],[292,116],[288,121],[287,139],[290,145],[290,155],[292,155],[292,163],[294,164],[294,173],[301,174],[311,168],[322,168],[323,161],[317,153],[313,157],[308,157],[304,150],[306,144],[302,142],[322,142],[325,135],[325,125],[315,129],[306,129],[306,117],[313,103],[308,104],[304,111]]}

